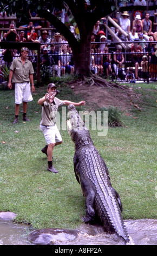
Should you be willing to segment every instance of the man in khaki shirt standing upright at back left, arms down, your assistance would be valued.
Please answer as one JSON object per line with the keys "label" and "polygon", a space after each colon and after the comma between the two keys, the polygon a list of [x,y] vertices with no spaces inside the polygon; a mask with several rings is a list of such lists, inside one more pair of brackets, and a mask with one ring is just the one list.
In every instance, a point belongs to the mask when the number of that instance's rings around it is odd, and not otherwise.
{"label": "man in khaki shirt standing upright at back left, arms down", "polygon": [[[28,48],[21,49],[21,57],[12,61],[9,72],[8,88],[12,88],[11,82],[15,83],[15,120],[13,124],[18,123],[19,105],[23,102],[23,121],[30,121],[27,118],[27,102],[32,101],[34,87],[34,69],[32,63],[27,59]],[[31,84],[31,88],[30,88]]]}

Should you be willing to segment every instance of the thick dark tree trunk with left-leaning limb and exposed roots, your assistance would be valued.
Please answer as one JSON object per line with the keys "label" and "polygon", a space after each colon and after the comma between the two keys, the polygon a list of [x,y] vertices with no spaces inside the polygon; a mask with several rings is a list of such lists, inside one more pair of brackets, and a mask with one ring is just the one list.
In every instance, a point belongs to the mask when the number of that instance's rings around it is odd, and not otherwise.
{"label": "thick dark tree trunk with left-leaning limb and exposed roots", "polygon": [[[90,85],[97,84],[100,86],[107,87],[120,87],[117,83],[111,83],[106,80],[103,80],[99,76],[91,74],[90,71],[90,39],[91,33],[93,31],[94,24],[91,22],[91,17],[84,17],[84,19],[78,20],[76,14],[76,20],[79,23],[78,29],[80,31],[80,41],[77,41],[75,36],[70,32],[69,28],[64,25],[57,17],[47,10],[38,11],[38,15],[44,17],[45,20],[48,20],[52,23],[57,30],[65,36],[71,49],[73,51],[73,60],[74,60],[74,74],[83,77],[84,82],[89,83],[89,80],[86,80],[86,77],[90,77]],[[93,21],[93,20],[92,20]]]}

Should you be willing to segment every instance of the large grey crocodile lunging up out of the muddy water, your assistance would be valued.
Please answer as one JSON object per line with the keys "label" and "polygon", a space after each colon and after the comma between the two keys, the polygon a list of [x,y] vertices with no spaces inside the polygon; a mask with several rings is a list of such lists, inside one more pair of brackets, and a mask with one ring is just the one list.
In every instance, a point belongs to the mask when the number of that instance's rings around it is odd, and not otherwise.
{"label": "large grey crocodile lunging up out of the muddy water", "polygon": [[68,106],[68,117],[67,130],[75,144],[74,172],[86,198],[86,216],[82,220],[91,223],[98,216],[104,231],[117,234],[126,244],[129,236],[121,216],[122,203],[112,187],[106,163],[72,104]]}

